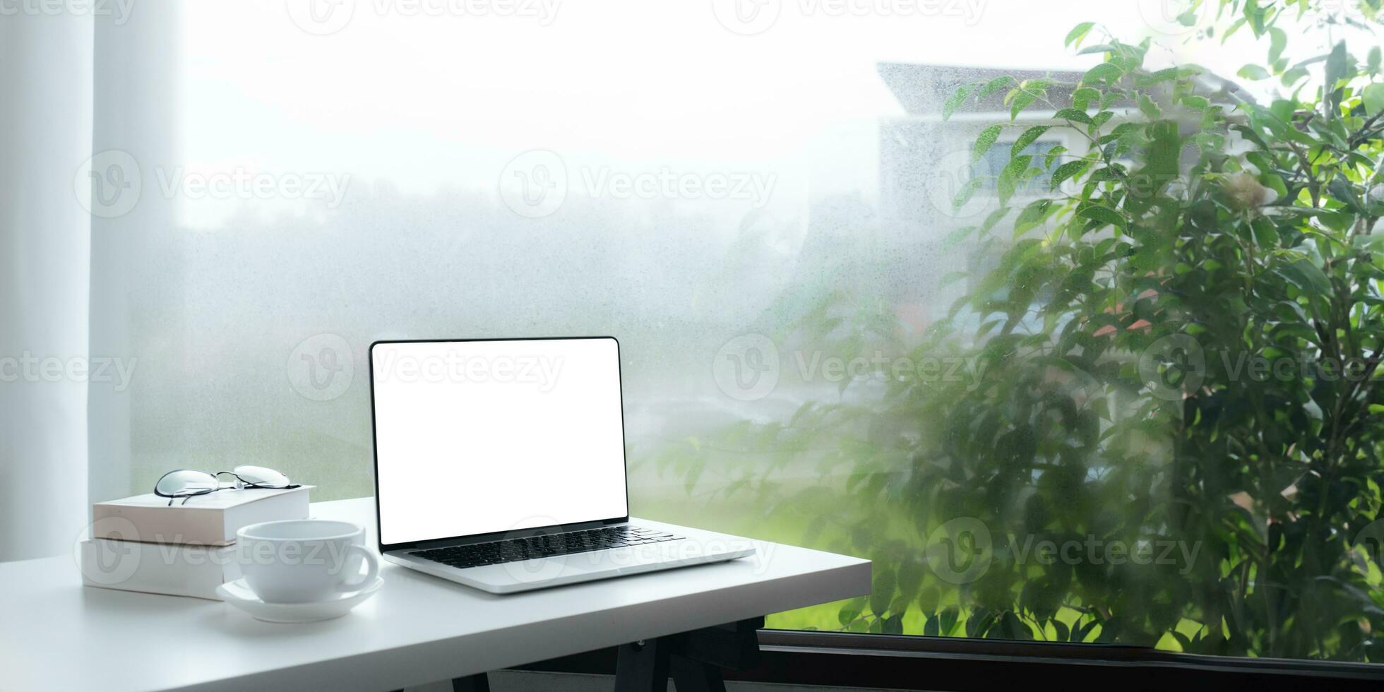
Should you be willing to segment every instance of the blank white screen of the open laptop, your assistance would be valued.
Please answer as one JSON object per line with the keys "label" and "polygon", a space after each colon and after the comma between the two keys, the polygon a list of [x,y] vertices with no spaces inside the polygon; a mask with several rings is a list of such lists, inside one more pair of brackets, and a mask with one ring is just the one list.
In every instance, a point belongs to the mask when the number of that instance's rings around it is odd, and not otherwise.
{"label": "blank white screen of the open laptop", "polygon": [[385,545],[628,515],[614,339],[376,343]]}

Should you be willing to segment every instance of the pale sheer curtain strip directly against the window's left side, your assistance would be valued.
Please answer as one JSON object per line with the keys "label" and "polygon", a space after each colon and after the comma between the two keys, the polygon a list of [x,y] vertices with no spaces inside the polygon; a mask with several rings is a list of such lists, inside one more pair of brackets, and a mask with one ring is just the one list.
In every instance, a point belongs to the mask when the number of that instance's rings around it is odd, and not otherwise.
{"label": "pale sheer curtain strip directly against the window's left side", "polygon": [[[112,12],[95,19],[91,148],[102,161],[122,166],[127,183],[138,184],[120,197],[108,191],[109,205],[91,217],[91,354],[111,363],[107,376],[89,382],[91,501],[149,491],[147,484],[133,484],[130,399],[138,381],[169,363],[141,360],[131,346],[130,292],[141,281],[179,271],[167,266],[163,253],[174,224],[174,199],[165,194],[161,180],[179,167],[181,11],[181,3],[141,4],[127,15]],[[143,274],[131,270],[148,264],[148,257],[162,260]],[[167,464],[195,465],[187,458]]]}

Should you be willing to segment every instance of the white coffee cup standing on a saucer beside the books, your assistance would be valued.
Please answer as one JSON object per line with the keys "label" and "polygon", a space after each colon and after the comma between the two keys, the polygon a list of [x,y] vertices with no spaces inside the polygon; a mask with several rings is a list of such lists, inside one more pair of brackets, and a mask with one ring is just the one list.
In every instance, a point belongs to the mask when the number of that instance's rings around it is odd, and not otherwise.
{"label": "white coffee cup standing on a saucer beside the books", "polygon": [[[288,519],[235,531],[245,583],[266,602],[311,603],[356,591],[379,574],[365,529],[329,519]],[[361,577],[360,566],[365,565]],[[360,577],[360,579],[354,579]]]}

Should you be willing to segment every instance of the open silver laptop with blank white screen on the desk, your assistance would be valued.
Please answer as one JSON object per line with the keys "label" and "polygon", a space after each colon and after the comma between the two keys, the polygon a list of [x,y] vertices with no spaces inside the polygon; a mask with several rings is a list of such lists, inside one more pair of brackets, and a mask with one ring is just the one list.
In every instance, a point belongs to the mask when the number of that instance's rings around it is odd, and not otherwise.
{"label": "open silver laptop with blank white screen on the desk", "polygon": [[630,519],[610,336],[370,347],[379,552],[509,594],[754,554]]}

